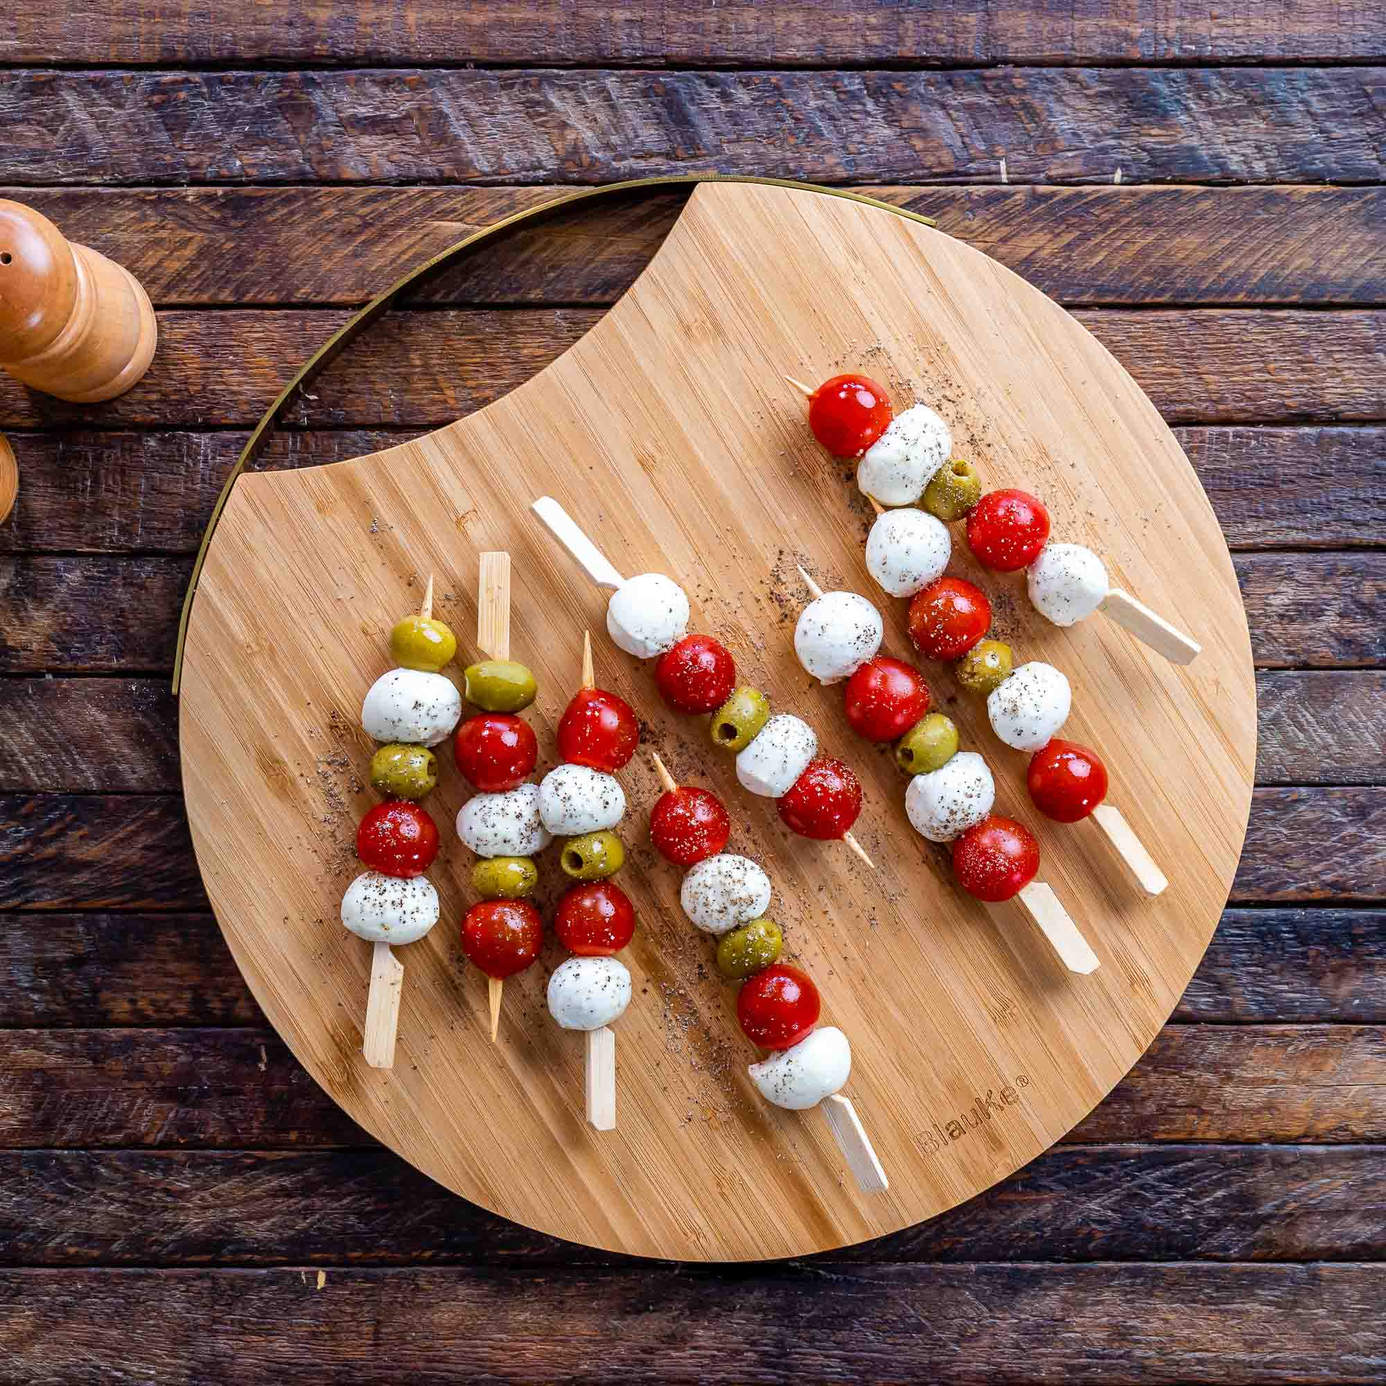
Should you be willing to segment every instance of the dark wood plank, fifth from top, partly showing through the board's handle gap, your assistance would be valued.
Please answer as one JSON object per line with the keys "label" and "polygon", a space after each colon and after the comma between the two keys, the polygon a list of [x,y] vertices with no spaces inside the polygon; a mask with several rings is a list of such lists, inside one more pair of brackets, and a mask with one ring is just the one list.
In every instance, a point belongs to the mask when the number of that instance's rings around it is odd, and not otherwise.
{"label": "dark wood plank, fifth from top, partly showing through the board's handle gap", "polygon": [[[193,553],[244,432],[14,437],[24,491],[0,553]],[[362,457],[409,431],[274,432],[258,470]],[[1346,549],[1386,534],[1386,428],[1177,428],[1232,547]],[[1303,491],[1315,503],[1306,506]],[[1265,614],[1261,615],[1265,620]]]}

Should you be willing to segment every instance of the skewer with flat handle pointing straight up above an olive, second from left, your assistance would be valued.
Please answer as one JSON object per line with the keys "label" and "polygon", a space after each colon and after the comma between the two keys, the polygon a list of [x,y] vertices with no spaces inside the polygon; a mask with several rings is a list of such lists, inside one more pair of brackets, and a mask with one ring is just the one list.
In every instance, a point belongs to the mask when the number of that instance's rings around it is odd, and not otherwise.
{"label": "skewer with flat handle pointing straight up above an olive, second from left", "polygon": [[539,823],[538,786],[525,783],[539,760],[534,729],[518,714],[538,693],[534,674],[510,658],[510,554],[481,554],[477,647],[467,665],[467,701],[480,708],[453,739],[457,769],[477,793],[457,814],[457,837],[477,855],[471,888],[481,897],[462,920],[462,951],[486,976],[491,1042],[500,1028],[506,977],[531,966],[543,920],[528,897],[539,883],[534,854],[550,839]]}

